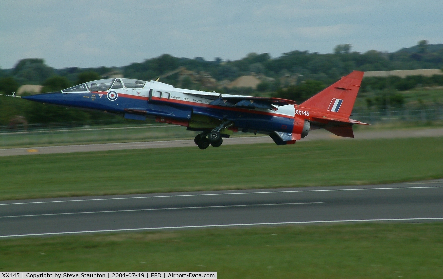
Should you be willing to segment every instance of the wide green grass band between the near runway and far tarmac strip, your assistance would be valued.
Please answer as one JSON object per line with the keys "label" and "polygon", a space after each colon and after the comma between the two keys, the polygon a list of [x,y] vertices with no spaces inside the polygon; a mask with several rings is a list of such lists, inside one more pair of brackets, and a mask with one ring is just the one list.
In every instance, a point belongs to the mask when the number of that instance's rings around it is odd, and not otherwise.
{"label": "wide green grass band between the near runway and far tarmac strip", "polygon": [[337,140],[0,157],[0,199],[443,178],[443,139]]}

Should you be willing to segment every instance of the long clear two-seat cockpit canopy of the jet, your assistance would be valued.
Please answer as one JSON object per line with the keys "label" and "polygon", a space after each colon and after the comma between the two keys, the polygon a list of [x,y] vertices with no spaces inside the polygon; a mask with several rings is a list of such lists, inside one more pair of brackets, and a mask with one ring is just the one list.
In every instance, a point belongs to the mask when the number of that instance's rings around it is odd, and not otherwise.
{"label": "long clear two-seat cockpit canopy of the jet", "polygon": [[84,93],[107,91],[117,88],[143,88],[146,81],[132,79],[132,78],[105,78],[96,81],[88,81],[79,85],[72,86],[62,90],[62,93]]}

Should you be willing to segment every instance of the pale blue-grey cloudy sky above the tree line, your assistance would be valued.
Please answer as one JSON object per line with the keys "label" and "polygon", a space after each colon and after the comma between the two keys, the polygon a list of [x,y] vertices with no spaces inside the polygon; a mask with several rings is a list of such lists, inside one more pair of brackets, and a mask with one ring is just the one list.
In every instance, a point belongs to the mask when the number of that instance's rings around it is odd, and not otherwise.
{"label": "pale blue-grey cloudy sky above the tree line", "polygon": [[125,66],[161,54],[237,60],[292,50],[443,43],[442,0],[0,0],[0,68]]}

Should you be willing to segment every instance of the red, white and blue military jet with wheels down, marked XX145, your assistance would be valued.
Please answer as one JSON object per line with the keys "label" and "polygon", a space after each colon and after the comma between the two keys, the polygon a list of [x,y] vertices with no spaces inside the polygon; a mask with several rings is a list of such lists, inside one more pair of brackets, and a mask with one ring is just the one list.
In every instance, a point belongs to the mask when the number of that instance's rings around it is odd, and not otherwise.
{"label": "red, white and blue military jet with wheels down, marked XX145", "polygon": [[269,135],[277,145],[284,145],[319,128],[354,137],[352,125],[365,124],[349,118],[362,78],[363,72],[354,71],[300,105],[280,98],[202,92],[131,78],[89,81],[22,98],[182,125],[201,132],[194,139],[200,149],[219,147],[224,137],[239,131]]}

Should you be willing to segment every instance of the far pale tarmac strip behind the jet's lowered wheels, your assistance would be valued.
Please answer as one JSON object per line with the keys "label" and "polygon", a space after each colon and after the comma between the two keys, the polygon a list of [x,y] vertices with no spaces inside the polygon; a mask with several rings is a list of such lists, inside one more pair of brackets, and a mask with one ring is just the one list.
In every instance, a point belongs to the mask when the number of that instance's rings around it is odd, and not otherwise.
{"label": "far pale tarmac strip behind the jet's lowered wheels", "polygon": [[[354,132],[354,136],[355,139],[438,137],[438,136],[443,136],[443,128]],[[338,140],[338,139],[349,140],[350,138],[335,136],[334,134],[331,134],[326,130],[320,129],[309,132],[308,136],[302,139],[301,141]],[[274,143],[274,142],[269,136],[248,136],[248,137],[233,137],[233,138],[223,139],[223,145],[252,144],[252,143]],[[124,150],[124,149],[167,148],[167,147],[198,148],[195,146],[194,140],[163,140],[163,141],[146,141],[146,142],[130,142],[130,143],[99,143],[99,144],[27,147],[27,148],[6,148],[6,149],[0,149],[0,156],[109,151],[109,150]]]}

